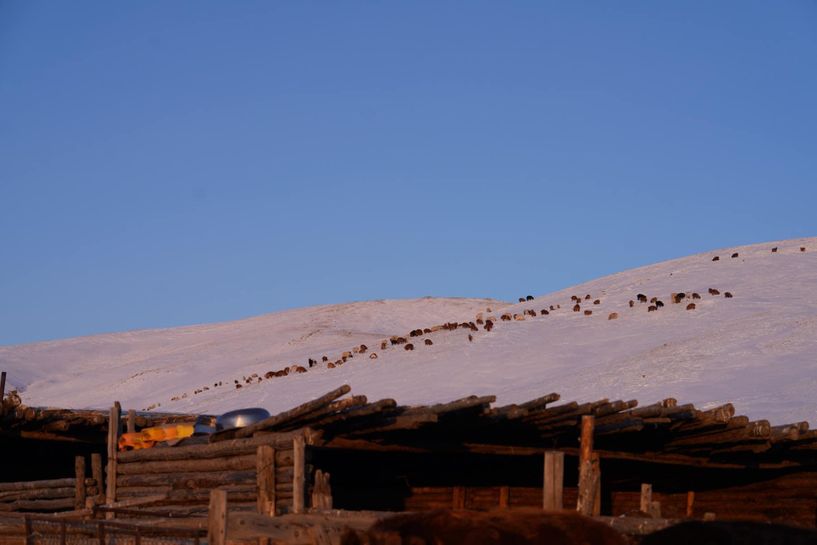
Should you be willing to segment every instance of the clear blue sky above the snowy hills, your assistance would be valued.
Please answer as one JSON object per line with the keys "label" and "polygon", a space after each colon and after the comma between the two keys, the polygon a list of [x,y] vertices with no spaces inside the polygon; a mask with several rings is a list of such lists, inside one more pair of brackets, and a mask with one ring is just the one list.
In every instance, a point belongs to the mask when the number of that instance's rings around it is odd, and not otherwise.
{"label": "clear blue sky above the snowy hills", "polygon": [[817,3],[0,0],[0,344],[817,235]]}

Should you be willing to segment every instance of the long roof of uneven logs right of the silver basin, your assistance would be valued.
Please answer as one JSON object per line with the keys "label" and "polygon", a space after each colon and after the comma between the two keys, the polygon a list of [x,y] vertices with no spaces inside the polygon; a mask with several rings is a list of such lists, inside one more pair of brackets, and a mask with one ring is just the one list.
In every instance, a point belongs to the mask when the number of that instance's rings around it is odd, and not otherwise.
{"label": "long roof of uneven logs right of the silver basin", "polygon": [[699,410],[668,398],[560,402],[550,393],[526,403],[493,406],[495,396],[409,407],[393,399],[369,402],[343,386],[253,426],[211,436],[211,442],[302,427],[317,445],[368,450],[485,454],[577,452],[581,418],[595,418],[594,448],[611,458],[711,467],[817,464],[817,431],[807,422],[772,426],[735,415],[731,403]]}

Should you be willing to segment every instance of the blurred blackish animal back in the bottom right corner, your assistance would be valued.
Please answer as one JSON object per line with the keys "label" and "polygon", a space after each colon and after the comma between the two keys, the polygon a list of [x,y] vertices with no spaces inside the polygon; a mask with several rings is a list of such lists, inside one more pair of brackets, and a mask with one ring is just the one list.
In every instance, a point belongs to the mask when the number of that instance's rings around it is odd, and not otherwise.
{"label": "blurred blackish animal back in the bottom right corner", "polygon": [[641,545],[817,545],[817,531],[749,521],[690,520],[648,534]]}

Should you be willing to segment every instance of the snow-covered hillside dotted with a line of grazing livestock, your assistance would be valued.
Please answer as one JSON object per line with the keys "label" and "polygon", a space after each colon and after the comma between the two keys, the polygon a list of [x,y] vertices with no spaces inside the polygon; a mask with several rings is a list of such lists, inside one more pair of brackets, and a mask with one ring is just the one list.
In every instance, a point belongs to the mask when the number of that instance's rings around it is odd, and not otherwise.
{"label": "snow-covered hillside dotted with a line of grazing livestock", "polygon": [[[773,247],[779,250],[773,253]],[[730,257],[733,253],[738,256]],[[714,256],[720,259],[713,261]],[[720,294],[710,294],[710,288]],[[725,297],[727,291],[734,297]],[[687,298],[673,304],[673,292]],[[693,292],[701,298],[693,299]],[[630,307],[639,293],[658,297],[664,306],[654,312],[648,312],[649,303]],[[582,299],[580,312],[572,310],[572,295]],[[593,304],[596,299],[599,304]],[[689,303],[696,308],[687,310]],[[551,311],[551,305],[560,308]],[[536,316],[500,319],[525,310]],[[613,312],[617,319],[608,319]],[[392,335],[408,337],[413,329],[450,321],[476,322],[478,313],[496,318],[493,330],[479,325],[476,332],[435,331],[409,338],[412,351],[390,343],[381,349]],[[321,361],[326,355],[334,362],[360,344],[367,352],[343,365],[328,368]],[[307,368],[309,358],[318,364],[305,373],[264,378],[291,365]],[[275,412],[347,383],[371,400],[393,397],[406,404],[469,394],[496,394],[504,404],[556,391],[576,400],[649,403],[676,397],[704,408],[731,401],[752,418],[814,423],[817,238],[693,255],[524,303],[373,301],[2,346],[0,369],[9,372],[28,405],[106,407],[120,400],[125,408],[160,411],[219,413],[262,406]],[[244,380],[254,374],[260,382]]]}

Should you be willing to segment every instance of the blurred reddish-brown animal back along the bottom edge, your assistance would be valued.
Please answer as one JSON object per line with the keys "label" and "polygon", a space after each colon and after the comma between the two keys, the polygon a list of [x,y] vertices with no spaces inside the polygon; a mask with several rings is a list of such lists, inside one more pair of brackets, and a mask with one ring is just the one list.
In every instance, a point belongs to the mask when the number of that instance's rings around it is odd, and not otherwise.
{"label": "blurred reddish-brown animal back along the bottom edge", "polygon": [[365,531],[346,530],[341,536],[340,543],[625,545],[627,541],[610,526],[577,513],[548,513],[533,509],[488,512],[440,509],[387,517]]}

